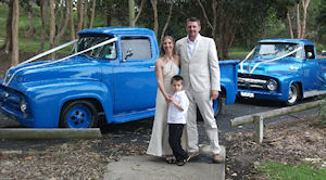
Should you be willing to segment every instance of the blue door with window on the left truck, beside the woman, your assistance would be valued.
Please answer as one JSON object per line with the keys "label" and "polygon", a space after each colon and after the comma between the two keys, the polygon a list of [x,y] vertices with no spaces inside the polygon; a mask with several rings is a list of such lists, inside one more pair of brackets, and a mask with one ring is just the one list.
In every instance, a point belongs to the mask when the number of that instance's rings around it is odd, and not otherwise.
{"label": "blue door with window on the left truck, beside the woman", "polygon": [[146,111],[155,106],[158,57],[151,37],[123,36],[120,40],[120,63],[114,70],[114,114]]}

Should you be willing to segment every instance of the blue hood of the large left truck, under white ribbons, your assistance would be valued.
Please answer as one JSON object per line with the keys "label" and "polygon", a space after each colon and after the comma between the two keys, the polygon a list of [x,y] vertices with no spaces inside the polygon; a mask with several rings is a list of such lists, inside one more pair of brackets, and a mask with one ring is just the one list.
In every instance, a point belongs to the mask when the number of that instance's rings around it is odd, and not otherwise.
{"label": "blue hood of the large left truck, under white ribbons", "polygon": [[26,83],[32,81],[93,79],[99,80],[100,68],[96,66],[97,61],[86,56],[73,56],[71,59],[55,62],[42,61],[18,65],[7,72],[4,83],[12,77],[10,83]]}

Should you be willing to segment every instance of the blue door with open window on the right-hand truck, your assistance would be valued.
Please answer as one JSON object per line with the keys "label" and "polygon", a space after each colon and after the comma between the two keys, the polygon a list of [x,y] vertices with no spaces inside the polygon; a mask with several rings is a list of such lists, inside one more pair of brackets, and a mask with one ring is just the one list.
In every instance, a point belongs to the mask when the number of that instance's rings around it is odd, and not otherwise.
{"label": "blue door with open window on the right-hand truck", "polygon": [[318,62],[315,56],[314,46],[304,46],[305,61],[303,62],[303,91],[316,90],[321,86],[318,80]]}

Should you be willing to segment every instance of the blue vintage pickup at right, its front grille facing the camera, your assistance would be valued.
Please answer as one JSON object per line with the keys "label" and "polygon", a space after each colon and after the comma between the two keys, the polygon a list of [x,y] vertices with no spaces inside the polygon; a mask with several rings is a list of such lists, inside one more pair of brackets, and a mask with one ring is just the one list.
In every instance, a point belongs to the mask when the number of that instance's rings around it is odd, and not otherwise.
{"label": "blue vintage pickup at right, its front grille facing the camera", "polygon": [[242,98],[293,105],[300,99],[326,92],[326,59],[317,57],[310,40],[260,40],[240,63],[238,91]]}

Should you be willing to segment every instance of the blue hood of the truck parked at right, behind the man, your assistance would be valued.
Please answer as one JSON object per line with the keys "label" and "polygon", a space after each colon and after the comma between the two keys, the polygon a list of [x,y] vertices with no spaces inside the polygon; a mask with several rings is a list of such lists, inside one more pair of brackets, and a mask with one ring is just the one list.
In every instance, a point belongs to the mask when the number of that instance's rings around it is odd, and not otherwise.
{"label": "blue hood of the truck parked at right, behind the man", "polygon": [[[301,63],[299,60],[294,59],[280,59],[272,62],[266,62],[268,60],[247,60],[240,63],[240,68],[238,73],[244,74],[260,74],[266,76],[280,76],[296,73],[301,68]],[[241,70],[241,64],[242,69]],[[252,70],[254,68],[254,70]]]}

